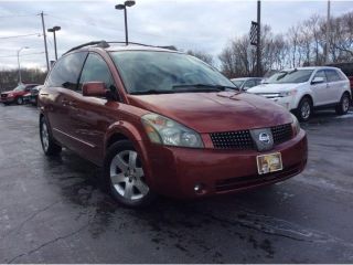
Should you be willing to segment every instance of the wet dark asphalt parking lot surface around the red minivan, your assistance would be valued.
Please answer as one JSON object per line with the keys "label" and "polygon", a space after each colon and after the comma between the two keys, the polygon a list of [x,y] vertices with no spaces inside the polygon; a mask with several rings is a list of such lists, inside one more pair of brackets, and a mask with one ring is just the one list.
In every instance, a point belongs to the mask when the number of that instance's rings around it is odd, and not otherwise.
{"label": "wet dark asphalt parking lot surface around the red minivan", "polygon": [[300,176],[245,193],[117,205],[100,169],[46,158],[38,110],[0,106],[0,263],[353,263],[353,112],[302,127]]}

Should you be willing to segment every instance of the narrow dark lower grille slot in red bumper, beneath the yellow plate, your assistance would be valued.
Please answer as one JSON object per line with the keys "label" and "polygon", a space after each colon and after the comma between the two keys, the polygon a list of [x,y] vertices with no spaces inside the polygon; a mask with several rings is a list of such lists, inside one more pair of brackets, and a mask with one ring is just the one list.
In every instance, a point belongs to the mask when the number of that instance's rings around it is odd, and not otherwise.
{"label": "narrow dark lower grille slot in red bumper, beneath the yellow plate", "polygon": [[271,172],[267,174],[253,174],[253,176],[246,176],[246,177],[217,180],[215,182],[215,190],[216,192],[223,192],[223,191],[243,189],[243,188],[257,186],[257,184],[265,184],[267,182],[272,182],[272,181],[280,181],[281,179],[286,179],[300,173],[301,168],[302,168],[302,165],[297,163],[281,171]]}

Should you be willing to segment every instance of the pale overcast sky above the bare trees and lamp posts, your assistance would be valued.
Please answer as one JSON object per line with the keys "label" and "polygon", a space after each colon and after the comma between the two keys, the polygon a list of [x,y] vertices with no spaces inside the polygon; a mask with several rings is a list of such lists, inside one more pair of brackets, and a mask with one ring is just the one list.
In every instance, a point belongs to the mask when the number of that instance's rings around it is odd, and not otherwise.
{"label": "pale overcast sky above the bare trees and lamp posts", "polygon": [[[124,41],[124,12],[115,4],[124,0],[97,1],[1,1],[0,68],[17,67],[17,51],[22,46],[21,65],[45,68],[41,11],[45,26],[60,25],[61,55],[69,47],[94,40]],[[153,45],[175,45],[217,56],[229,39],[248,33],[256,21],[256,1],[236,0],[136,0],[128,9],[129,40]],[[275,33],[314,13],[327,14],[327,1],[263,1],[261,22]],[[331,14],[353,11],[352,1],[331,1]],[[14,35],[28,35],[11,38]],[[35,35],[36,34],[36,35]],[[49,56],[54,59],[53,34],[47,34]],[[35,53],[35,54],[33,54]]]}

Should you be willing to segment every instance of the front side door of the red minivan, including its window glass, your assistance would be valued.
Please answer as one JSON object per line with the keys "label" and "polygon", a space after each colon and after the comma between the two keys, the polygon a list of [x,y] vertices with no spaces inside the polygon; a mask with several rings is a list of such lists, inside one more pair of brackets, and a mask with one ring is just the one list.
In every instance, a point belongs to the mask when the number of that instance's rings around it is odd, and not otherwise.
{"label": "front side door of the red minivan, including its window glass", "polygon": [[[89,53],[79,78],[79,88],[87,82],[104,82],[107,89],[116,92],[110,70],[104,59]],[[76,150],[93,162],[99,162],[103,158],[105,131],[111,124],[108,108],[117,108],[118,102],[108,102],[107,98],[85,97],[77,95],[73,107],[69,126],[73,128],[73,136],[77,139],[79,148]]]}

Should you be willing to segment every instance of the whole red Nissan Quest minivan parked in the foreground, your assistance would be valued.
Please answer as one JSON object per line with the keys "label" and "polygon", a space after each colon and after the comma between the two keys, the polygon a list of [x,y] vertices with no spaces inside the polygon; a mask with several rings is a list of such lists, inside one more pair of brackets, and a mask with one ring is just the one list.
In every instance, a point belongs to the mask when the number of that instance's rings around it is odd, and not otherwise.
{"label": "whole red Nissan Quest minivan parked in the foreground", "polygon": [[234,91],[181,52],[94,42],[64,54],[40,92],[46,156],[62,146],[103,167],[129,206],[156,194],[197,198],[282,181],[307,163],[297,118]]}

